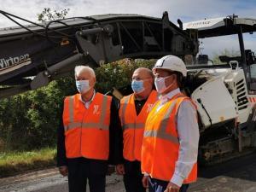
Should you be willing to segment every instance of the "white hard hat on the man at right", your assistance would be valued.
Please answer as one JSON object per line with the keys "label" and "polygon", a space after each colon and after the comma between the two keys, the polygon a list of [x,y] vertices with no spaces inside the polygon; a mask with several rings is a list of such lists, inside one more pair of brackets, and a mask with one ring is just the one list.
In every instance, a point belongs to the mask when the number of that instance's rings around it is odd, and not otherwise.
{"label": "white hard hat on the man at right", "polygon": [[187,76],[187,68],[184,62],[175,55],[166,55],[156,61],[154,68],[167,69],[170,71],[180,72],[183,77]]}

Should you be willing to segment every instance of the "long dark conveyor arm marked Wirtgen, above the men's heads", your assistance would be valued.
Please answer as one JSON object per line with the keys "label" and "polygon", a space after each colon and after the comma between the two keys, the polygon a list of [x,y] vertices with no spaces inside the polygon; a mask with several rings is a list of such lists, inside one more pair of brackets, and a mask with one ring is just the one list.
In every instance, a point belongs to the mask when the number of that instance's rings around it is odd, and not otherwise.
{"label": "long dark conveyor arm marked Wirtgen, above the men's heads", "polygon": [[[9,19],[12,16],[23,20],[3,11],[0,11],[0,14]],[[9,89],[0,87],[0,98],[24,90],[34,90],[49,84],[52,79],[67,76],[67,71],[73,70],[78,63],[99,67],[122,58],[148,59],[163,55],[183,57],[188,54],[195,56],[198,52],[197,38],[190,37],[190,31],[183,31],[170,22],[166,12],[161,19],[141,15],[96,15],[55,20],[44,25],[26,21],[32,25],[23,26],[15,21],[20,28],[0,30],[0,49],[4,49],[0,58],[14,57],[31,51],[28,54],[32,61],[26,67],[10,72],[2,68],[0,84],[3,87],[8,84],[13,86]],[[150,25],[156,26],[153,29]],[[170,34],[170,37],[166,37]],[[118,42],[114,39],[118,39]],[[62,45],[64,41],[67,44]],[[27,42],[31,44],[31,49],[25,46]],[[44,42],[42,48],[37,47],[38,42]],[[34,76],[34,79],[29,86],[27,82],[26,86],[22,84],[23,79],[31,76]],[[19,89],[23,85],[26,89]]]}

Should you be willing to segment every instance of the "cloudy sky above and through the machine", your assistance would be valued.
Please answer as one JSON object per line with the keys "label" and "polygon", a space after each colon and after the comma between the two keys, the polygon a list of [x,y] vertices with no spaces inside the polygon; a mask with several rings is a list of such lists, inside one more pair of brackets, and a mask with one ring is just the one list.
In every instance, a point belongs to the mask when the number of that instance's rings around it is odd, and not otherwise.
{"label": "cloudy sky above and through the machine", "polygon": [[[0,0],[0,9],[28,20],[37,20],[44,8],[70,9],[68,17],[101,14],[138,14],[161,17],[168,11],[169,19],[176,23],[225,17],[236,14],[239,17],[256,18],[256,0]],[[0,28],[15,26],[0,15]],[[236,38],[204,39],[202,53],[212,55],[223,49],[238,49]],[[256,34],[247,35],[247,49],[256,50]],[[210,44],[211,46],[209,46]],[[253,46],[254,45],[254,46]]]}

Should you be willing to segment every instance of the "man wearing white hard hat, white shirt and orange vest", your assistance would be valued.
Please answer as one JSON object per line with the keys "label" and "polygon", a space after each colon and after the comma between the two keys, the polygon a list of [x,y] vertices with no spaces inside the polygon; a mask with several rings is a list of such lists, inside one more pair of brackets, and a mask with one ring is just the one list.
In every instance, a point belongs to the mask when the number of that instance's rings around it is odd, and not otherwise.
{"label": "man wearing white hard hat, white shirt and orange vest", "polygon": [[143,135],[143,185],[149,192],[185,192],[197,178],[199,129],[196,106],[180,87],[187,69],[174,55],[153,68],[161,95],[148,114]]}

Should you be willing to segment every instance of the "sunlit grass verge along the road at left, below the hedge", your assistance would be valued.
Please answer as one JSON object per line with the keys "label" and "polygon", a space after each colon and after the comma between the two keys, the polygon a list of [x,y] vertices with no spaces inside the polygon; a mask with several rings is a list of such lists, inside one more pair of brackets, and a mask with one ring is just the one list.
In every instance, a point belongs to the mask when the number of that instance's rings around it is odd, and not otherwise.
{"label": "sunlit grass verge along the road at left, below the hedge", "polygon": [[0,153],[0,177],[55,165],[55,148]]}

